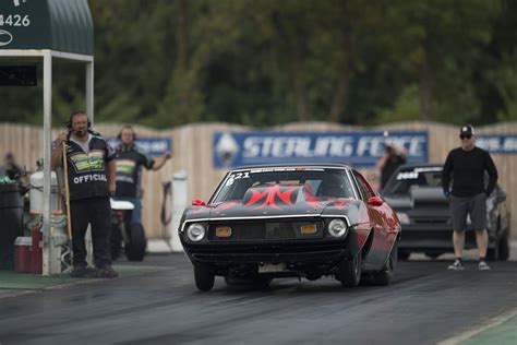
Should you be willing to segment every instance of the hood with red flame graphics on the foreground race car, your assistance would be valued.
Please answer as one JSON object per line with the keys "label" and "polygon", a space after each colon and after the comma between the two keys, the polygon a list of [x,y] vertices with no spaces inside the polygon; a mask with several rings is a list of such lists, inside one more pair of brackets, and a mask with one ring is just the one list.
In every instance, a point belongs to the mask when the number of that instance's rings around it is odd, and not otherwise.
{"label": "hood with red flame graphics on the foreground race car", "polygon": [[[345,198],[315,198],[303,187],[279,186],[251,188],[239,201],[226,201],[187,210],[187,219],[318,216],[328,210],[345,210],[356,201]],[[357,207],[357,205],[354,205]]]}

